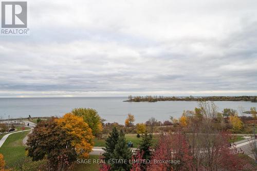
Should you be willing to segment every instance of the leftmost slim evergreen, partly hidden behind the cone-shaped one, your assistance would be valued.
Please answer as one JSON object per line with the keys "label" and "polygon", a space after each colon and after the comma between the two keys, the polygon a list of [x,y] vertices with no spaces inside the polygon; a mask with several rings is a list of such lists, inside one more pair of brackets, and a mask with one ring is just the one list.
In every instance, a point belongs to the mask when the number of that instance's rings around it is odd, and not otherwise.
{"label": "leftmost slim evergreen, partly hidden behind the cone-shaped one", "polygon": [[119,132],[116,129],[116,127],[114,127],[113,131],[109,134],[109,136],[105,141],[105,144],[106,144],[105,148],[103,148],[105,150],[105,152],[103,153],[105,162],[111,159],[111,156],[114,152],[115,145],[117,144],[118,139],[119,139]]}

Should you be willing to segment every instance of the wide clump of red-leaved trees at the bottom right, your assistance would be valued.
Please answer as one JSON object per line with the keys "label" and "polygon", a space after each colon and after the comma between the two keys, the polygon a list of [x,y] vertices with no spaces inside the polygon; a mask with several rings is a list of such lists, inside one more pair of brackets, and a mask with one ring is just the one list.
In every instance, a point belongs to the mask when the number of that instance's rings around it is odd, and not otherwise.
{"label": "wide clump of red-leaved trees at the bottom right", "polygon": [[[199,137],[197,139],[198,141],[203,140]],[[147,170],[254,170],[249,167],[246,160],[238,157],[236,148],[228,145],[228,139],[228,134],[217,134],[209,153],[208,148],[206,148],[208,145],[193,148],[190,146],[190,140],[181,132],[161,135],[155,150],[153,150]],[[198,153],[195,153],[196,150]],[[158,163],[154,162],[155,160],[169,160],[173,163]],[[174,164],[174,162],[177,163]]]}

